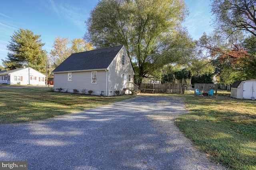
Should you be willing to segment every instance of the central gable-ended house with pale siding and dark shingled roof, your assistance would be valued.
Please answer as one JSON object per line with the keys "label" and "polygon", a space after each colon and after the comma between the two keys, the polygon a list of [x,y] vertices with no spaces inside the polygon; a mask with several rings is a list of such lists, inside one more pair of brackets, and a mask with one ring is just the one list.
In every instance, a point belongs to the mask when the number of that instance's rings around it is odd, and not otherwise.
{"label": "central gable-ended house with pale siding and dark shingled roof", "polygon": [[123,45],[74,53],[63,61],[54,73],[54,89],[114,96],[116,92],[130,92],[134,70]]}

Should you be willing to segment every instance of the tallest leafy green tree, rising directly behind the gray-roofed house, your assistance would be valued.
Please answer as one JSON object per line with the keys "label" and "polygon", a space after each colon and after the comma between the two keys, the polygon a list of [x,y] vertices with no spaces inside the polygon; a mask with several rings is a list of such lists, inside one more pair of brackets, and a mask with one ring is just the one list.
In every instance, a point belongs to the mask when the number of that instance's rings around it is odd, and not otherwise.
{"label": "tallest leafy green tree, rising directly behind the gray-roofed house", "polygon": [[140,83],[165,64],[186,62],[194,47],[180,26],[187,14],[184,0],[102,0],[85,38],[96,47],[124,45]]}

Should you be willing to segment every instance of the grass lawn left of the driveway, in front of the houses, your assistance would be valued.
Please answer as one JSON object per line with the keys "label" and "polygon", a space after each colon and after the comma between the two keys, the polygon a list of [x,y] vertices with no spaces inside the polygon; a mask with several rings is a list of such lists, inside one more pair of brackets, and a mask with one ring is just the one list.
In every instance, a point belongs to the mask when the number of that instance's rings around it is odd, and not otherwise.
{"label": "grass lawn left of the driveway, in front of the houses", "polygon": [[1,88],[0,123],[21,123],[75,113],[134,96],[86,96],[50,92],[50,88]]}

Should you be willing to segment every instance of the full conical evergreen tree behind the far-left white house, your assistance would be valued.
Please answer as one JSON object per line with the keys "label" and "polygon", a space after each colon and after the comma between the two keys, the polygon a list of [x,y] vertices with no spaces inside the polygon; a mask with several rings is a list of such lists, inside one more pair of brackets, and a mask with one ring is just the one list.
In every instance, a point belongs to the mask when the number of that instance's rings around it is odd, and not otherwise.
{"label": "full conical evergreen tree behind the far-left white house", "polygon": [[7,49],[10,51],[5,60],[2,60],[7,70],[30,66],[42,73],[46,69],[46,51],[42,50],[44,43],[41,35],[35,35],[28,29],[14,31]]}

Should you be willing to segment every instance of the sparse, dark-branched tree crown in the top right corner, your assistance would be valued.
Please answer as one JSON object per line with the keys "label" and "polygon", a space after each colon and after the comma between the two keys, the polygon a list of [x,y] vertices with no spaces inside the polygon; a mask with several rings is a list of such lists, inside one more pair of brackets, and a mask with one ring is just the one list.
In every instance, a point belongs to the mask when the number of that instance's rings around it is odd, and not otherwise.
{"label": "sparse, dark-branched tree crown in the top right corner", "polygon": [[256,36],[255,0],[213,0],[212,12],[216,26],[229,35],[242,30]]}

